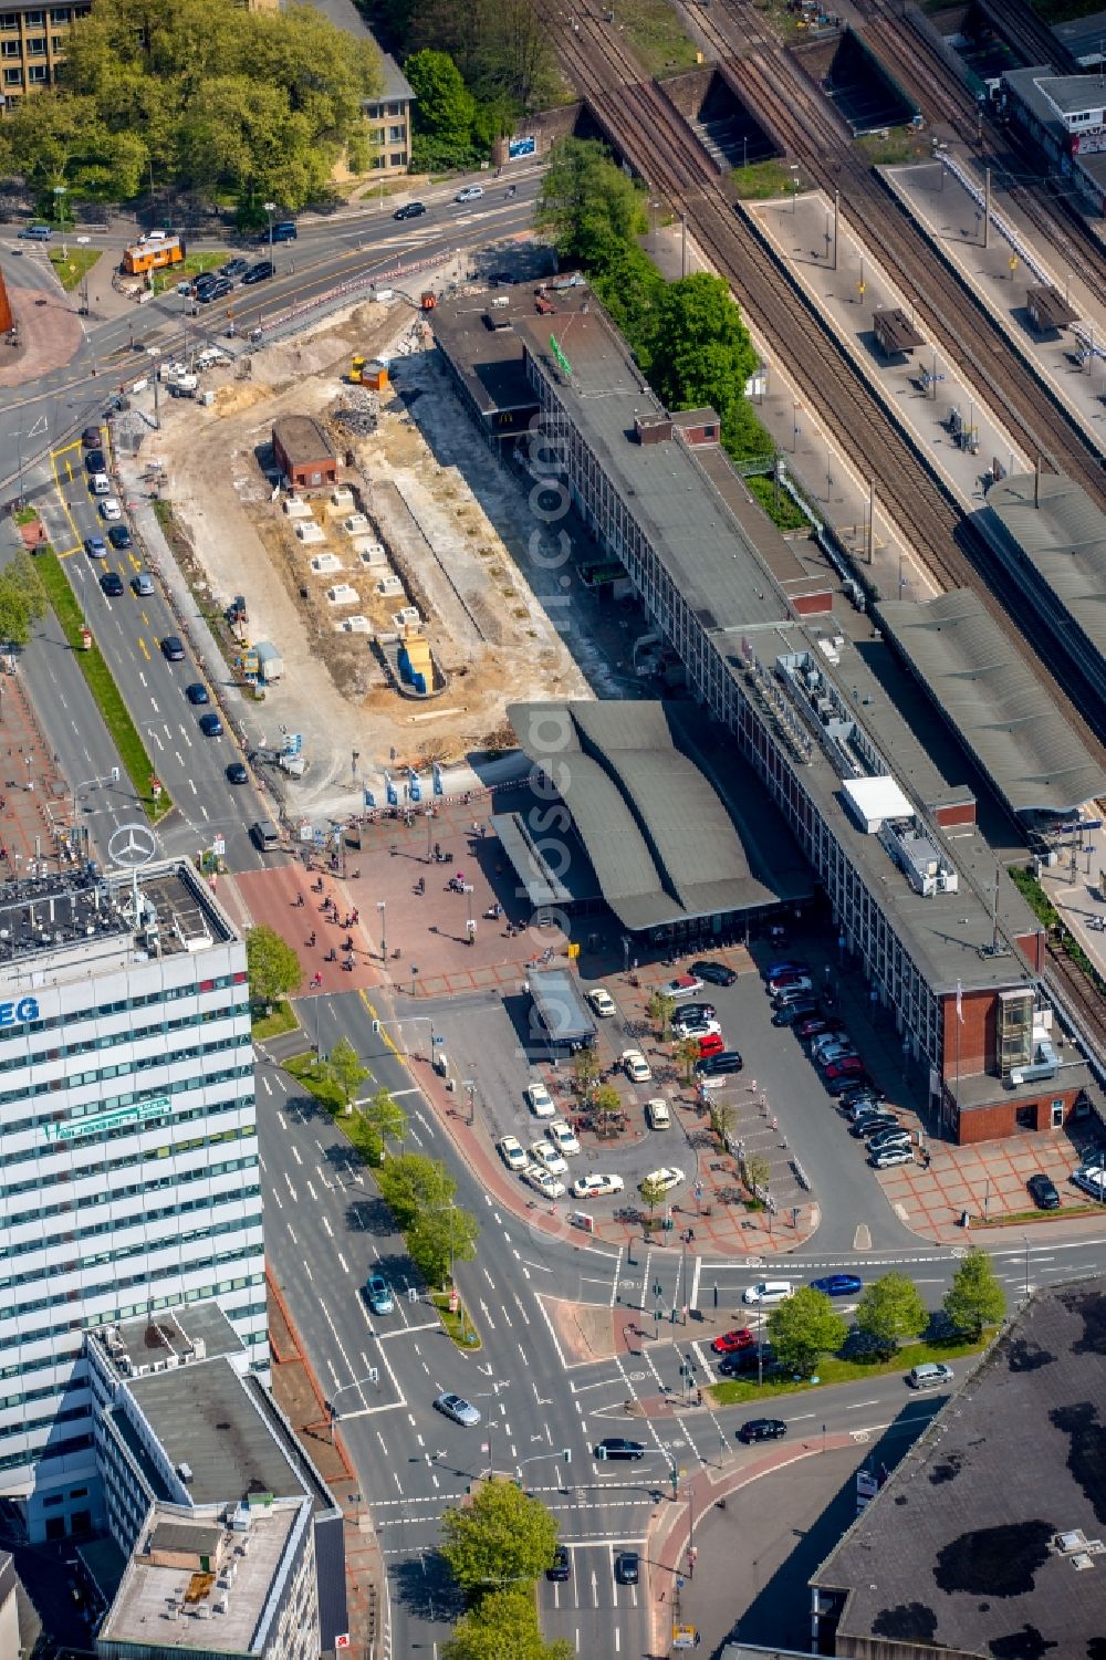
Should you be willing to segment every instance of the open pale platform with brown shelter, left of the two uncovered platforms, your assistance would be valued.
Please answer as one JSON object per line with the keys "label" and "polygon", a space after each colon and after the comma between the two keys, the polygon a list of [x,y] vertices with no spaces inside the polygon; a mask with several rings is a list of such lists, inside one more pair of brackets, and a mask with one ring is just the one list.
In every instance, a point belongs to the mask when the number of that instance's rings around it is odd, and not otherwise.
{"label": "open pale platform with brown shelter, left of the two uncovered platforms", "polygon": [[[749,212],[794,282],[844,342],[887,418],[908,433],[965,513],[983,505],[995,461],[1003,473],[1030,465],[844,214],[834,237],[834,204],[827,196],[810,191],[787,201],[754,203]],[[797,405],[799,428],[802,420]],[[832,460],[825,466],[815,501],[832,508]],[[903,530],[908,533],[908,526]],[[910,598],[920,596],[912,591]]]}

